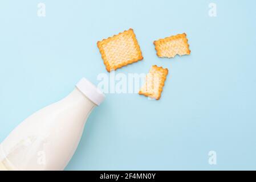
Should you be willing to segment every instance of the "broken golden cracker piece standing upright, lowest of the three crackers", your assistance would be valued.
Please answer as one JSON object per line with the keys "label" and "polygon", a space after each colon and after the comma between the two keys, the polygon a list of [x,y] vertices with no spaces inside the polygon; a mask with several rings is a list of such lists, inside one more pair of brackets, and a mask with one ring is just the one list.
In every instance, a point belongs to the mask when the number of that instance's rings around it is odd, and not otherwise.
{"label": "broken golden cracker piece standing upright, lowest of the three crackers", "polygon": [[141,87],[139,94],[159,100],[167,75],[167,68],[153,65],[146,76],[145,84]]}

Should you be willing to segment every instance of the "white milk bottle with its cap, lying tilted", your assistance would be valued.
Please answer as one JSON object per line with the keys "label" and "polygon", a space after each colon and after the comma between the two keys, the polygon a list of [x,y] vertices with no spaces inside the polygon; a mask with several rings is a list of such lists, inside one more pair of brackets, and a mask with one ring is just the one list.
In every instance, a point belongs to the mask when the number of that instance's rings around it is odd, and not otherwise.
{"label": "white milk bottle with its cap, lying tilted", "polygon": [[63,100],[32,114],[0,144],[0,170],[63,170],[105,96],[86,78]]}

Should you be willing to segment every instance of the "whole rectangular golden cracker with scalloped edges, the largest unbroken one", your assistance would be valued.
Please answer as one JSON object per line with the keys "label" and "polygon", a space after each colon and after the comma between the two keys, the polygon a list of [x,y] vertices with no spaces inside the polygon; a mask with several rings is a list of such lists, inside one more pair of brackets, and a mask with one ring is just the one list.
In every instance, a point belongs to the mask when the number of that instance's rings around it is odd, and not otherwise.
{"label": "whole rectangular golden cracker with scalloped edges, the largest unbroken one", "polygon": [[132,28],[97,42],[97,47],[108,72],[143,59]]}

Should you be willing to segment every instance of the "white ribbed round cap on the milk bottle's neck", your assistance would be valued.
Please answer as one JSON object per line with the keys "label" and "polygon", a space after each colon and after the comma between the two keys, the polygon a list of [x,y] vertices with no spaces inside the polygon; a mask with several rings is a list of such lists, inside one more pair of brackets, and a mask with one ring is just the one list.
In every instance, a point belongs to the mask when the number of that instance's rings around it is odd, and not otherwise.
{"label": "white ribbed round cap on the milk bottle's neck", "polygon": [[105,95],[94,84],[88,81],[86,78],[82,78],[77,84],[78,88],[86,97],[88,97],[96,105],[100,105],[105,99]]}

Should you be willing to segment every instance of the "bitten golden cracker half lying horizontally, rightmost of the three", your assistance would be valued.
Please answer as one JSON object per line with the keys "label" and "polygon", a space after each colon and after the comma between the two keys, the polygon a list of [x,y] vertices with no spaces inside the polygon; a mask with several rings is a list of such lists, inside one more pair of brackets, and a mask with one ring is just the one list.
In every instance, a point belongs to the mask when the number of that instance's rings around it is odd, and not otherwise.
{"label": "bitten golden cracker half lying horizontally, rightmost of the three", "polygon": [[176,55],[189,55],[190,49],[186,34],[169,36],[168,38],[159,39],[154,42],[157,56],[174,57]]}

